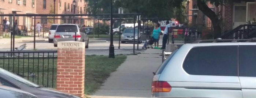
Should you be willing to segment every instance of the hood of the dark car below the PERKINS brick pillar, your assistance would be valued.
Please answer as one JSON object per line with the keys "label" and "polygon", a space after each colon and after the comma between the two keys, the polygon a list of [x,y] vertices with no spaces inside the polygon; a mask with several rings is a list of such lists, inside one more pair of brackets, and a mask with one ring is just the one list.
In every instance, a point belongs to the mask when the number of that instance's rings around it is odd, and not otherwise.
{"label": "hood of the dark car below the PERKINS brick pillar", "polygon": [[81,98],[76,95],[62,92],[62,91],[57,91],[53,88],[47,88],[47,87],[42,87],[42,88],[37,88],[40,90],[37,93],[33,93],[34,95],[40,97],[47,96],[47,97],[53,97],[53,98]]}

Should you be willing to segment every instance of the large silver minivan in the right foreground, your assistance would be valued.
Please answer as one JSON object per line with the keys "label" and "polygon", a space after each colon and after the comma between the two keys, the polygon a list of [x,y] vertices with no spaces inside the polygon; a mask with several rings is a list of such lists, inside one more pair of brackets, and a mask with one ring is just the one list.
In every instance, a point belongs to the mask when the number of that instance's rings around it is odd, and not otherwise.
{"label": "large silver minivan in the right foreground", "polygon": [[152,97],[256,98],[255,50],[255,42],[182,45],[154,73]]}

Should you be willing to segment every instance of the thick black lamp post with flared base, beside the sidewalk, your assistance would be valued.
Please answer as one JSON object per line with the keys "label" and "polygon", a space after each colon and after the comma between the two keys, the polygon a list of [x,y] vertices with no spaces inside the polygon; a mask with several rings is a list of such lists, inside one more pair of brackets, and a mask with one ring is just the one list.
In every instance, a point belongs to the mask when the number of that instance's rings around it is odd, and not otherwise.
{"label": "thick black lamp post with flared base, beside the sidewalk", "polygon": [[115,47],[113,45],[113,0],[110,0],[110,50],[109,50],[109,56],[108,58],[115,58]]}

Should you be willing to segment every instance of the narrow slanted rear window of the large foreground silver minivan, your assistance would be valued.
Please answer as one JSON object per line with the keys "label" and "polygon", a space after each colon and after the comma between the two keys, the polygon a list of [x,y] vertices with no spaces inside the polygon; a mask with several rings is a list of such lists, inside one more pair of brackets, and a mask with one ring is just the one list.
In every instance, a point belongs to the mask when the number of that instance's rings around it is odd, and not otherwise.
{"label": "narrow slanted rear window of the large foreground silver minivan", "polygon": [[164,62],[160,65],[160,67],[156,70],[156,75],[161,74],[164,70],[164,68],[166,67],[166,65],[169,63],[169,61],[171,60],[171,58],[174,56],[174,54],[178,51],[178,49],[175,49],[170,56],[167,57],[166,60],[164,60]]}

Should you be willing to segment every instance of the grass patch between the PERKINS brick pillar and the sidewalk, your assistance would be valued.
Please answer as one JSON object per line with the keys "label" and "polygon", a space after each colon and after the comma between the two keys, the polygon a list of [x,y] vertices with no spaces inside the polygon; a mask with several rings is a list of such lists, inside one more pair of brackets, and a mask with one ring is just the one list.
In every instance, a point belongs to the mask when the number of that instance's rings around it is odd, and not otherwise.
{"label": "grass patch between the PERKINS brick pillar and the sidewalk", "polygon": [[85,60],[85,94],[92,95],[110,73],[126,60],[126,56],[116,56],[115,59],[108,59],[108,56],[86,56]]}

